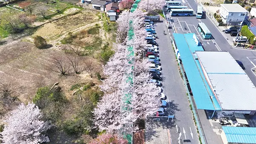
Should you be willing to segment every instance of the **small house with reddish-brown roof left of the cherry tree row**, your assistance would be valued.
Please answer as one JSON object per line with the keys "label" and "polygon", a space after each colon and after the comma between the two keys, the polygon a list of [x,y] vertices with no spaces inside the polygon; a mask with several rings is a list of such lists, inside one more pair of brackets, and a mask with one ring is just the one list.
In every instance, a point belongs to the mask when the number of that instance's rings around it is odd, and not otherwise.
{"label": "small house with reddish-brown roof left of the cherry tree row", "polygon": [[109,3],[106,5],[105,12],[111,21],[116,21],[120,11],[118,3]]}

